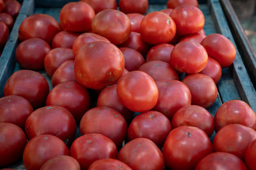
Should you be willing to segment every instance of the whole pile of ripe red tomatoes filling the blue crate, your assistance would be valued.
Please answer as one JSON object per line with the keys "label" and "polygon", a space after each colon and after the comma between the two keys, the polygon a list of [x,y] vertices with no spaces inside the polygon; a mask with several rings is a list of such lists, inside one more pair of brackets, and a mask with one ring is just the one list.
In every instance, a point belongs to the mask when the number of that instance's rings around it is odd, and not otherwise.
{"label": "whole pile of ripe red tomatoes filling the blue crate", "polygon": [[205,35],[198,2],[168,0],[145,16],[147,0],[116,6],[81,0],[63,6],[60,24],[45,14],[22,22],[23,69],[0,99],[0,167],[22,157],[28,170],[255,169],[252,108],[205,109],[236,48]]}

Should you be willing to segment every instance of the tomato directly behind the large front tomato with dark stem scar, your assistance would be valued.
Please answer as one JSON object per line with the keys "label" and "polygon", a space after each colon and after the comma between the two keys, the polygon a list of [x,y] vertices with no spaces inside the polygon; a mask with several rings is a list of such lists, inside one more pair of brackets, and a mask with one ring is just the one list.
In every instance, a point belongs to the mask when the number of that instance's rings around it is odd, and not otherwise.
{"label": "tomato directly behind the large front tomato with dark stem scar", "polygon": [[205,108],[196,105],[184,106],[173,115],[173,129],[182,125],[198,127],[209,137],[214,131],[214,119],[211,113]]}

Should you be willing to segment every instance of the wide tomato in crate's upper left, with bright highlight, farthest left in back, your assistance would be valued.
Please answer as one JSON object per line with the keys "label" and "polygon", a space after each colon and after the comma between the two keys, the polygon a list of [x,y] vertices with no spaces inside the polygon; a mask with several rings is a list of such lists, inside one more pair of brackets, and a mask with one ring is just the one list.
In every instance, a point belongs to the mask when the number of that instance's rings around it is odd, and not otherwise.
{"label": "wide tomato in crate's upper left, with bright highlight, farthest left in back", "polygon": [[19,40],[42,38],[51,45],[54,36],[60,32],[58,22],[46,14],[34,14],[24,19],[19,27]]}

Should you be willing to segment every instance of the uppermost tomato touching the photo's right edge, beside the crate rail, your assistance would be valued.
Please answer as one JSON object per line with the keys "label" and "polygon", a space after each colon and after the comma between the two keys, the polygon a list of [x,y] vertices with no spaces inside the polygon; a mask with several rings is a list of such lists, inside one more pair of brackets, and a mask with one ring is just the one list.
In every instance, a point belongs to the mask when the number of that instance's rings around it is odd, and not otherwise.
{"label": "uppermost tomato touching the photo's right edge, beside the crate rail", "polygon": [[256,115],[244,101],[230,100],[223,103],[214,116],[215,131],[228,124],[241,124],[256,129]]}

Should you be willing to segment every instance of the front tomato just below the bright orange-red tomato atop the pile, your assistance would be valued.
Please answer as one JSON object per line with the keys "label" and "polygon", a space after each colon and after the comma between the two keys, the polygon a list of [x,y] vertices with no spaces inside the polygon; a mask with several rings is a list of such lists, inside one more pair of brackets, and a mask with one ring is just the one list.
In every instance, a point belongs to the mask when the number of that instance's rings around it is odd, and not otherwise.
{"label": "front tomato just below the bright orange-red tomato atop the pile", "polygon": [[166,136],[172,130],[170,120],[158,111],[145,111],[136,116],[127,131],[129,141],[148,138],[162,148]]}

